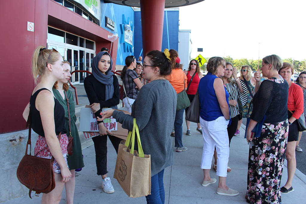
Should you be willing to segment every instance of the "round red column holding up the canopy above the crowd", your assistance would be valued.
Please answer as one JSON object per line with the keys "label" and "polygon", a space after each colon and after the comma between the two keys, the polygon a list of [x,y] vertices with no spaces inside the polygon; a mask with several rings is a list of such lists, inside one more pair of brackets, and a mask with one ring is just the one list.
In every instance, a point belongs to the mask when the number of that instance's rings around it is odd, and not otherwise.
{"label": "round red column holding up the canopy above the crowd", "polygon": [[162,49],[165,0],[140,0],[142,46],[144,55]]}

